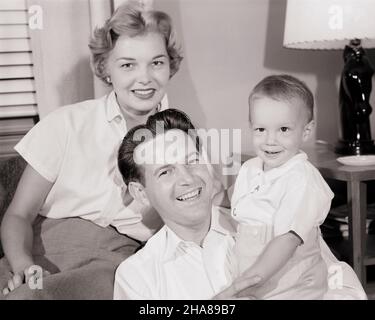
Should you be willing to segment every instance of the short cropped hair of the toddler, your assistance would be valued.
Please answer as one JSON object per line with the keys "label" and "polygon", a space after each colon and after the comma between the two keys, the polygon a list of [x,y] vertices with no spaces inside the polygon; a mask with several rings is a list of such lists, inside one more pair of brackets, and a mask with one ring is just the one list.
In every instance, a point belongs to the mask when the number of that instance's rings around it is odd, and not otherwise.
{"label": "short cropped hair of the toddler", "polygon": [[281,74],[265,77],[250,93],[249,107],[254,99],[260,97],[287,101],[299,99],[306,107],[308,122],[314,119],[314,96],[311,90],[303,81],[291,75]]}

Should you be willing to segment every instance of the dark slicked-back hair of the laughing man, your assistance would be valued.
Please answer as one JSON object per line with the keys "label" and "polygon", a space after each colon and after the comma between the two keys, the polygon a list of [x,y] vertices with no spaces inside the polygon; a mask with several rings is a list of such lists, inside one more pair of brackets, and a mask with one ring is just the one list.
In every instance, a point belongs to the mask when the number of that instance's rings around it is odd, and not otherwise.
{"label": "dark slicked-back hair of the laughing man", "polygon": [[141,143],[155,138],[158,134],[169,130],[178,129],[188,134],[193,141],[197,151],[200,151],[200,140],[190,118],[177,109],[167,109],[157,112],[147,119],[146,124],[135,126],[130,129],[123,139],[117,157],[117,163],[126,184],[137,181],[145,185],[141,165],[134,161],[134,150]]}

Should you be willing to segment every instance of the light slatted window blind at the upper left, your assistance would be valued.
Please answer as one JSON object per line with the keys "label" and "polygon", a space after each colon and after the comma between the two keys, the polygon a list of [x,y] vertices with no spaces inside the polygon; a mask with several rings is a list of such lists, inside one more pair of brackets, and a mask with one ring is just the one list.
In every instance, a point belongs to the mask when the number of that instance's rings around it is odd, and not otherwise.
{"label": "light slatted window blind at the upper left", "polygon": [[26,0],[1,0],[0,119],[37,115]]}

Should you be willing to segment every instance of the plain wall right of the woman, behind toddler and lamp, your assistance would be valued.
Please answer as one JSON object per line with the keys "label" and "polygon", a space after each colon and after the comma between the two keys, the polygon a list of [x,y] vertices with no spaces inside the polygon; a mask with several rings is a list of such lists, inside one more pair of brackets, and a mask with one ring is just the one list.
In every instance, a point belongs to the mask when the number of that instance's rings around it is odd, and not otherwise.
{"label": "plain wall right of the woman, behind toddler and lamp", "polygon": [[[154,7],[172,16],[184,49],[170,84],[171,106],[203,127],[241,128],[242,151],[248,153],[251,88],[266,75],[290,73],[315,94],[316,139],[337,141],[342,53],[283,48],[286,0],[154,0]],[[369,54],[375,65],[375,51]]]}

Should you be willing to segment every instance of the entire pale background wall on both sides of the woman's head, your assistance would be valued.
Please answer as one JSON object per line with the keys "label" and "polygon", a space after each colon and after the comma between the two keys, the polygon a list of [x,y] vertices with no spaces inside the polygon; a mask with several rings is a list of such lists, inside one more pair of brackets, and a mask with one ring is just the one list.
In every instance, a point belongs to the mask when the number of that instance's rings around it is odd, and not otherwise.
{"label": "entire pale background wall on both sides of the woman's head", "polygon": [[[107,6],[108,1],[29,0],[41,4],[44,12],[44,28],[35,31],[43,38],[39,45],[44,79],[39,83],[44,88],[38,97],[42,116],[94,96],[87,47],[93,23],[90,9],[93,3]],[[170,106],[185,110],[201,127],[242,129],[242,151],[249,153],[251,88],[266,75],[290,73],[315,94],[316,139],[337,141],[342,52],[283,48],[286,0],[154,0],[153,4],[173,18],[184,51],[181,70],[169,86]],[[375,50],[368,53],[375,65]],[[371,104],[375,106],[374,93]],[[375,137],[374,115],[371,120]]]}

